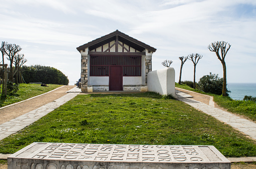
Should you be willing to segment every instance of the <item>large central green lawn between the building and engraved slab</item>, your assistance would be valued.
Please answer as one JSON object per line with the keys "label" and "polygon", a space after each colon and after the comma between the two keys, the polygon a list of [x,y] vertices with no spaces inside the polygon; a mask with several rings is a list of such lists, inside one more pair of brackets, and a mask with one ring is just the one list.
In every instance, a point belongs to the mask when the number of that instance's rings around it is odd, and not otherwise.
{"label": "large central green lawn between the building and engraved slab", "polygon": [[39,142],[214,145],[227,157],[256,156],[256,142],[175,99],[153,93],[77,95],[0,141],[0,153]]}

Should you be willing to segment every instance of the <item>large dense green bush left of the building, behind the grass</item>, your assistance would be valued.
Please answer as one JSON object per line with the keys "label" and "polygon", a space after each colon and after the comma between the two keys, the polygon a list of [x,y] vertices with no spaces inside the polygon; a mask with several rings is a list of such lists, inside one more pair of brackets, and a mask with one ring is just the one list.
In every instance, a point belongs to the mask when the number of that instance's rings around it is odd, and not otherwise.
{"label": "large dense green bush left of the building, behind the grass", "polygon": [[46,84],[64,84],[69,80],[60,70],[43,65],[22,66],[21,72],[26,83],[42,82]]}

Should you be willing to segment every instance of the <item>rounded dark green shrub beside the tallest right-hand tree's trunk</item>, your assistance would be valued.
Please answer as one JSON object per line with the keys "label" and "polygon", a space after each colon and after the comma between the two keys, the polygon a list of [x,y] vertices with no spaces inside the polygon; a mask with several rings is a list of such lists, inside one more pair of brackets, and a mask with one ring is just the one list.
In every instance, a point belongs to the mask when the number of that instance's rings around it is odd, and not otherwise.
{"label": "rounded dark green shrub beside the tallest right-hand tree's trunk", "polygon": [[[211,92],[213,94],[222,94],[223,78],[218,77],[218,74],[204,75],[198,82],[198,88],[204,92]],[[226,95],[229,95],[229,90],[226,90]]]}

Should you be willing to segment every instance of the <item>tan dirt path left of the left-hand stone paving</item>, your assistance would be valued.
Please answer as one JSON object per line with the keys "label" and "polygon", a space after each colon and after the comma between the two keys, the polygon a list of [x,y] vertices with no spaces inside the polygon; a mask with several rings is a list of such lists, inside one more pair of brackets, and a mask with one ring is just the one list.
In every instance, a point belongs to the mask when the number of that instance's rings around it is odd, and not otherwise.
{"label": "tan dirt path left of the left-hand stone paving", "polygon": [[38,97],[26,100],[24,102],[14,104],[12,106],[0,109],[0,124],[10,121],[20,115],[23,115],[29,111],[32,111],[38,107],[43,106],[53,100],[62,97],[66,94],[66,91],[75,87],[74,85],[64,85],[54,91],[40,95]]}

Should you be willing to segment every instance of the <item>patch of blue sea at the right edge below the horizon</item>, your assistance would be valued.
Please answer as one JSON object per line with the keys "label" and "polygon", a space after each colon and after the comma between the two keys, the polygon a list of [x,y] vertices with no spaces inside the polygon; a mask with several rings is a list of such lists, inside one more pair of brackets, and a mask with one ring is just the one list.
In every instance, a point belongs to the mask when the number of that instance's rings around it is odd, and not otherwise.
{"label": "patch of blue sea at the right edge below the horizon", "polygon": [[256,97],[256,83],[227,83],[227,89],[232,99],[242,100],[244,95]]}

